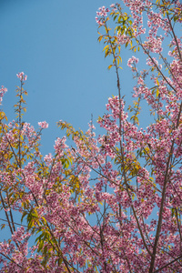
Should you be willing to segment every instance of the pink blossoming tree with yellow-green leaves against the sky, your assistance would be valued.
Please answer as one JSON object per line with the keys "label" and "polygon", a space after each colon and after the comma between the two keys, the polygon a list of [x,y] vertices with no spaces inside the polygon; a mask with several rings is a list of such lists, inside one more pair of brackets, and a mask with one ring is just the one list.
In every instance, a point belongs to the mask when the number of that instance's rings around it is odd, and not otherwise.
{"label": "pink blossoming tree with yellow-green leaves against the sky", "polygon": [[[35,131],[22,121],[24,73],[17,75],[16,120],[7,125],[1,111],[1,220],[11,233],[0,243],[1,272],[181,272],[182,5],[124,0],[110,8],[96,16],[118,91],[98,118],[105,135],[96,138],[92,122],[84,134],[59,121],[66,136],[43,157],[48,125]],[[122,46],[136,55],[127,63],[136,78],[132,106],[120,85]],[[141,71],[138,50],[147,57]],[[139,126],[143,101],[152,114],[146,129]]]}

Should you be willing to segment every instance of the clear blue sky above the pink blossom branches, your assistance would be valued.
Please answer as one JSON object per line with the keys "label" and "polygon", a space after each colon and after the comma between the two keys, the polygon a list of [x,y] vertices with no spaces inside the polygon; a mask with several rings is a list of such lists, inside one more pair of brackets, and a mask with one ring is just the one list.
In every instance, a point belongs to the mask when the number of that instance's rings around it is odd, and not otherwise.
{"label": "clear blue sky above the pink blossom branches", "polygon": [[[16,73],[28,76],[27,114],[37,128],[47,121],[44,154],[53,151],[56,122],[66,120],[84,131],[94,115],[106,112],[107,98],[117,95],[116,75],[106,68],[104,45],[97,42],[96,10],[110,0],[0,0],[0,86],[7,87],[3,108],[14,118]],[[123,56],[121,79],[126,94],[132,91],[130,70]],[[98,128],[98,126],[96,126]],[[99,133],[99,130],[97,130]]]}

